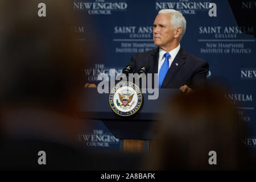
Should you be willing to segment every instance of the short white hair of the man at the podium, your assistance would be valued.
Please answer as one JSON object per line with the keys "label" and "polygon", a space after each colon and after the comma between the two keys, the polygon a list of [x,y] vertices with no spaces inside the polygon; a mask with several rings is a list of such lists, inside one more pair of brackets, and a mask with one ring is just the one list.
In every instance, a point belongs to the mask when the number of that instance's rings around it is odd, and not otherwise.
{"label": "short white hair of the man at the podium", "polygon": [[163,9],[160,10],[158,12],[158,14],[171,14],[171,25],[173,28],[177,28],[177,27],[181,27],[182,28],[182,32],[180,34],[180,40],[183,37],[183,35],[185,34],[186,31],[186,19],[184,18],[184,16],[176,10],[173,9]]}

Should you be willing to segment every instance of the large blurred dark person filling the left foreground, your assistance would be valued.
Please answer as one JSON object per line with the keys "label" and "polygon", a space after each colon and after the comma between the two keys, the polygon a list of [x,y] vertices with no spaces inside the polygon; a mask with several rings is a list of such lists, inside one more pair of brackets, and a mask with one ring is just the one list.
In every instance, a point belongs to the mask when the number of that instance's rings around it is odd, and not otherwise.
{"label": "large blurred dark person filling the left foreground", "polygon": [[[74,118],[82,68],[71,27],[70,1],[49,1],[46,17],[40,1],[1,1],[0,98],[1,169],[82,169],[84,160]],[[39,151],[46,165],[38,164]]]}

